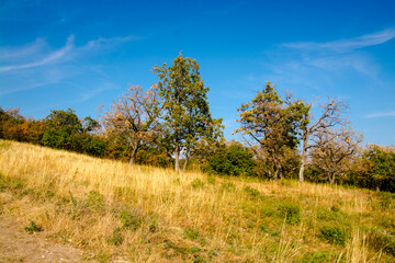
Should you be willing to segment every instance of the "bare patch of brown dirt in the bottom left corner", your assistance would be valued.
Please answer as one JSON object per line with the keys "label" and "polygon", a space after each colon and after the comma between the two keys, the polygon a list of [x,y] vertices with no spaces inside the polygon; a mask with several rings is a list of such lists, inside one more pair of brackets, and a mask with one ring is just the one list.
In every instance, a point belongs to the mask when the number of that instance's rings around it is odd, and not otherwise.
{"label": "bare patch of brown dirt in the bottom left corner", "polygon": [[84,262],[82,251],[54,243],[45,232],[29,235],[13,218],[0,216],[0,263],[3,262]]}

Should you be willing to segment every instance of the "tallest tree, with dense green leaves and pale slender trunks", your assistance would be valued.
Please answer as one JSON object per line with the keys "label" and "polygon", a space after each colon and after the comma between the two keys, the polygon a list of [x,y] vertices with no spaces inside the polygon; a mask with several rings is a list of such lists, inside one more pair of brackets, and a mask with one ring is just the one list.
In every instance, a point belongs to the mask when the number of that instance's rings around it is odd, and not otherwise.
{"label": "tallest tree, with dense green leaves and pale slender trunks", "polygon": [[[200,138],[218,135],[222,119],[213,119],[210,113],[207,92],[200,77],[195,59],[183,57],[182,53],[172,66],[155,66],[159,94],[163,108],[162,142],[176,158],[176,171],[180,170],[180,153],[190,157]],[[185,161],[187,161],[185,160]]]}

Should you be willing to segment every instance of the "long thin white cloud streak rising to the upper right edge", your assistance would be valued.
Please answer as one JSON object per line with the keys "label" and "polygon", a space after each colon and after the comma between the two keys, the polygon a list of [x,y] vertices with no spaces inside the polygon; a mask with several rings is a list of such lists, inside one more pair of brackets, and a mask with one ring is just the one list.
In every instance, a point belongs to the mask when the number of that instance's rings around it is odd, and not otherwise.
{"label": "long thin white cloud streak rising to the upper right edge", "polygon": [[282,46],[295,49],[329,49],[334,52],[350,52],[366,46],[386,43],[395,37],[395,28],[387,28],[373,34],[362,35],[349,39],[332,41],[327,43],[300,42],[286,43]]}

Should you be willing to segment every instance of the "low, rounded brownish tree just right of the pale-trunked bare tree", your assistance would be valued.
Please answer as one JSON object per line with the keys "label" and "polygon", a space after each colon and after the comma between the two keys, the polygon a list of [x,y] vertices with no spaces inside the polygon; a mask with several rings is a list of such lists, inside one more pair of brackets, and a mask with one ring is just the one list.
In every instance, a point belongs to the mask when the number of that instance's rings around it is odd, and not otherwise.
{"label": "low, rounded brownish tree just right of the pale-trunked bare tree", "polygon": [[361,141],[362,136],[346,126],[320,129],[315,136],[318,147],[313,150],[313,163],[324,170],[330,184],[334,184],[337,178],[350,170],[350,161]]}

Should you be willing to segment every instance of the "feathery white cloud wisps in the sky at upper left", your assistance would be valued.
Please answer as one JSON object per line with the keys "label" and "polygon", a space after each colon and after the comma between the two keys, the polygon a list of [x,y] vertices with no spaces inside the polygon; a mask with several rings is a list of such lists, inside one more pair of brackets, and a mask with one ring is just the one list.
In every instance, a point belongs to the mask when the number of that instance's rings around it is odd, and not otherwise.
{"label": "feathery white cloud wisps in the sky at upper left", "polygon": [[[75,93],[77,102],[87,101],[113,88],[113,80],[104,70],[108,65],[93,62],[94,57],[136,39],[139,38],[98,38],[77,46],[70,35],[59,48],[53,48],[45,38],[19,47],[0,47],[0,95],[65,87]],[[109,84],[103,88],[103,83]]]}

